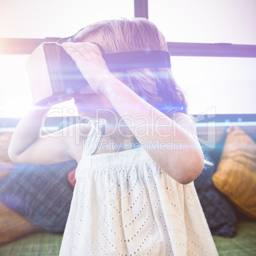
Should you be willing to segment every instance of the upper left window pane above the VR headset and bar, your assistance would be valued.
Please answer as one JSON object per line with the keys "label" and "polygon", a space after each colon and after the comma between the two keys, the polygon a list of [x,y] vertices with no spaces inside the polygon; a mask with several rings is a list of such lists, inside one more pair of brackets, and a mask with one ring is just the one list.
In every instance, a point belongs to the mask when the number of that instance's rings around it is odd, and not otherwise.
{"label": "upper left window pane above the VR headset and bar", "polygon": [[1,3],[0,38],[71,36],[92,22],[134,17],[131,0],[8,0]]}

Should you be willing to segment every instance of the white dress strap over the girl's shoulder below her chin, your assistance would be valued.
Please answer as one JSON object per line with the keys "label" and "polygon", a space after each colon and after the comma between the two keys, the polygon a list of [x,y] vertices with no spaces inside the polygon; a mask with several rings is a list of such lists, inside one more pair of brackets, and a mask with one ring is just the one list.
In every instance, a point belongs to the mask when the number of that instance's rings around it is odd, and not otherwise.
{"label": "white dress strap over the girl's shoulder below her chin", "polygon": [[90,132],[87,136],[87,139],[83,141],[83,156],[87,157],[92,155],[99,145],[99,141],[104,134],[105,125],[103,122],[98,120],[89,120]]}

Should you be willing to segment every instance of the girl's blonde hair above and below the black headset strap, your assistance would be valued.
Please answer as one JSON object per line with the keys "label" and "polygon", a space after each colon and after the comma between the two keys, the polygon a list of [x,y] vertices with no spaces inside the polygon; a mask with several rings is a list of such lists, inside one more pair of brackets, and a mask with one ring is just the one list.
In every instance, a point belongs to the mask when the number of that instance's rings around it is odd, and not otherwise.
{"label": "girl's blonde hair above and below the black headset strap", "polygon": [[[168,50],[162,33],[146,18],[96,22],[79,32],[74,41],[87,38],[90,42],[95,39],[106,53]],[[162,113],[187,113],[185,93],[174,81],[171,68],[129,69],[114,75]]]}

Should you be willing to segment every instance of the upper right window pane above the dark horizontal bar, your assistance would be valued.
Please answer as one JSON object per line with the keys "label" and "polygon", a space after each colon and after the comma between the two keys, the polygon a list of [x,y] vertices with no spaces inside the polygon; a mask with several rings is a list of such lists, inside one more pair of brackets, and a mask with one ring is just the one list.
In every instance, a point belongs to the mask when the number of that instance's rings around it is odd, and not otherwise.
{"label": "upper right window pane above the dark horizontal bar", "polygon": [[169,42],[256,45],[255,0],[148,0]]}

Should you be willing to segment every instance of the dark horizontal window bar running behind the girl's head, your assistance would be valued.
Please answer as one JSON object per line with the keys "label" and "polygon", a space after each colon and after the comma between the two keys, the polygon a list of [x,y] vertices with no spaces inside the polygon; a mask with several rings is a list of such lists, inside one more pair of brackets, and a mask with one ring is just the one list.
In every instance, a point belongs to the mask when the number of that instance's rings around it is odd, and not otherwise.
{"label": "dark horizontal window bar running behind the girl's head", "polygon": [[[59,38],[0,38],[0,54],[31,54],[43,42]],[[256,45],[231,43],[167,43],[171,56],[256,57]]]}

